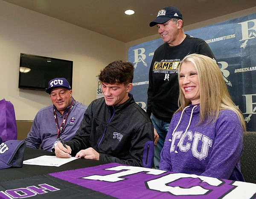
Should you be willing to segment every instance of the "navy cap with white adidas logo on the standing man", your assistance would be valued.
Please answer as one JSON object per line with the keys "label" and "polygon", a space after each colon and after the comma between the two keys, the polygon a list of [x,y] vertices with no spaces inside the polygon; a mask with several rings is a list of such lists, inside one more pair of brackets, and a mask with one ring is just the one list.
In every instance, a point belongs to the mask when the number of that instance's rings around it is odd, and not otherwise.
{"label": "navy cap with white adidas logo on the standing man", "polygon": [[182,20],[182,14],[179,9],[169,6],[161,9],[157,13],[157,18],[154,21],[151,21],[149,23],[149,26],[155,26],[158,23],[166,23],[166,21],[169,21],[171,18],[177,18]]}

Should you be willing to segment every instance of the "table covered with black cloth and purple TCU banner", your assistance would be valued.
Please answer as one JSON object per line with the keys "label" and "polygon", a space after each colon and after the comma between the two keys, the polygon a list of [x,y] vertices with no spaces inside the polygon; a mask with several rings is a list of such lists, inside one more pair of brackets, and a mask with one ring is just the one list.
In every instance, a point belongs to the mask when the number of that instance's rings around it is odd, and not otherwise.
{"label": "table covered with black cloth and purple TCU banner", "polygon": [[[51,152],[26,148],[24,160]],[[0,198],[256,198],[256,184],[76,159],[0,170]]]}

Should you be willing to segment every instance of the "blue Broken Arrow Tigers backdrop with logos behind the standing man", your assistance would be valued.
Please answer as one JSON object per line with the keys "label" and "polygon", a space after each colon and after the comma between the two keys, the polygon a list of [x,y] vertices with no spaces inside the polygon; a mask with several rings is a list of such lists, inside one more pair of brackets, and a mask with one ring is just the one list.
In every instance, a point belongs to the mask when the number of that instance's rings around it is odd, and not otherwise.
{"label": "blue Broken Arrow Tigers backdrop with logos behind the standing man", "polygon": [[[256,13],[185,33],[208,43],[230,95],[244,115],[247,131],[256,131]],[[134,63],[132,94],[144,110],[148,71],[154,51],[161,44],[160,38],[134,45],[128,51],[128,61]]]}

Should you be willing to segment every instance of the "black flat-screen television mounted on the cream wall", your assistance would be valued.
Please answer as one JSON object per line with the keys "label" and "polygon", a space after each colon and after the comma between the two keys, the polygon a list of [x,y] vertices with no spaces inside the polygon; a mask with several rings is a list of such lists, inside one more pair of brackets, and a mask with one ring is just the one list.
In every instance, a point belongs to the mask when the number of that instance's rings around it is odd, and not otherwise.
{"label": "black flat-screen television mounted on the cream wall", "polygon": [[49,80],[64,77],[72,88],[73,61],[20,53],[19,88],[45,90]]}

